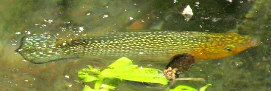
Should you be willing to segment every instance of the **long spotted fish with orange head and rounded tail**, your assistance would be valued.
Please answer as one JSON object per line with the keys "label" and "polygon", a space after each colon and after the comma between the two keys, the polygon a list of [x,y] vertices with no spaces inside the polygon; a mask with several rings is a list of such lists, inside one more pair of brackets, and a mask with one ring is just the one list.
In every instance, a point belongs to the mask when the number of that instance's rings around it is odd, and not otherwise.
{"label": "long spotted fish with orange head and rounded tail", "polygon": [[42,64],[70,58],[120,58],[169,62],[175,55],[188,53],[196,61],[221,59],[259,44],[258,39],[233,32],[138,30],[57,38],[24,36],[16,50],[25,60]]}

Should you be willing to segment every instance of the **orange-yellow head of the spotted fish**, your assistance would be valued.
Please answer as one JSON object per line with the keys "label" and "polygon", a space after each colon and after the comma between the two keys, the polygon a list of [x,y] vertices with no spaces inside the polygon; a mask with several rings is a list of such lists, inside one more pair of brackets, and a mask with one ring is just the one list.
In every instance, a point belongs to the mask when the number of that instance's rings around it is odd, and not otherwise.
{"label": "orange-yellow head of the spotted fish", "polygon": [[250,47],[257,46],[259,40],[247,35],[239,35],[237,33],[218,34],[209,37],[204,42],[203,47],[192,53],[196,60],[220,59],[235,55]]}

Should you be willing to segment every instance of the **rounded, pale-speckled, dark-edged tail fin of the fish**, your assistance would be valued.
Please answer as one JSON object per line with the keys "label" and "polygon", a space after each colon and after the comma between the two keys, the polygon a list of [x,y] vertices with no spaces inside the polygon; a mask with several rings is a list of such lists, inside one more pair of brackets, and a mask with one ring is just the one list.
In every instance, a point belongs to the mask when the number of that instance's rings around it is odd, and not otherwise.
{"label": "rounded, pale-speckled, dark-edged tail fin of the fish", "polygon": [[49,36],[25,36],[21,39],[19,52],[27,61],[42,64],[60,59],[75,58],[74,55],[65,55],[56,44],[60,39]]}

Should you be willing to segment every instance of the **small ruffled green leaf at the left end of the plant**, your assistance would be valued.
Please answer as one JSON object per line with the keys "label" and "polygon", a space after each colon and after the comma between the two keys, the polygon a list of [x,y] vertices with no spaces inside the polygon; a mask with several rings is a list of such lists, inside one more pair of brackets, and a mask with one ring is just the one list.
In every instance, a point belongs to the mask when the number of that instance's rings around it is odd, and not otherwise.
{"label": "small ruffled green leaf at the left end of the plant", "polygon": [[100,74],[98,69],[94,69],[91,66],[86,66],[86,68],[81,69],[78,71],[78,77],[83,79],[84,82],[92,82],[98,80],[97,76]]}

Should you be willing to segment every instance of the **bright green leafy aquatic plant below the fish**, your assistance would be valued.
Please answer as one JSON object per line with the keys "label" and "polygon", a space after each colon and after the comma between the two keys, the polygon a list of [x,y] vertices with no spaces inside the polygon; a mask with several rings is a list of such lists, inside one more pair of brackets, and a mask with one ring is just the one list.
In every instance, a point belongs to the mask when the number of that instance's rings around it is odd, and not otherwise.
{"label": "bright green leafy aquatic plant below the fish", "polygon": [[[168,85],[169,80],[164,76],[162,71],[152,68],[143,68],[138,65],[133,65],[132,61],[128,58],[120,58],[107,69],[100,71],[99,69],[91,66],[78,71],[78,77],[83,82],[94,82],[94,89],[90,86],[85,85],[83,91],[109,91],[114,90],[119,82],[122,80],[135,81],[135,82],[146,82],[146,83],[157,83],[162,85]],[[199,91],[205,91],[207,87],[211,86],[208,84],[202,87]],[[198,91],[194,88],[180,85],[175,89],[169,91]]]}

